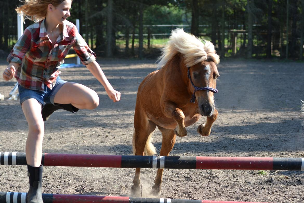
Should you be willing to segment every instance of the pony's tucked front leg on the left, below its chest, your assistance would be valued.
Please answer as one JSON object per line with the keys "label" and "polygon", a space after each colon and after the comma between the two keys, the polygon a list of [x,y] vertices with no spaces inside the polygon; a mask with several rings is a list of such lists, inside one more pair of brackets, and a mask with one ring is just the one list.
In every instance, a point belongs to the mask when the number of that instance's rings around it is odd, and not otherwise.
{"label": "pony's tucked front leg on the left, below its chest", "polygon": [[177,122],[177,127],[174,129],[175,135],[179,137],[185,137],[188,132],[185,128],[185,115],[184,112],[179,109],[173,102],[165,102],[165,115],[167,117],[173,117]]}

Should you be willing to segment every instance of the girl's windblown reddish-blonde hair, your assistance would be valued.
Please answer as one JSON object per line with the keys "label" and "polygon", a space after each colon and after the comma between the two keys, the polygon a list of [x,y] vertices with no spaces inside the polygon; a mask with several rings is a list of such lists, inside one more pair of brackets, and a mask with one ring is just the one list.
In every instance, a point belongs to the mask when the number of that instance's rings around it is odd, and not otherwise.
{"label": "girl's windblown reddish-blonde hair", "polygon": [[[17,7],[15,10],[24,19],[30,19],[35,22],[43,20],[47,15],[47,5],[52,4],[57,7],[65,0],[19,0],[24,4]],[[73,1],[73,0],[72,0]]]}

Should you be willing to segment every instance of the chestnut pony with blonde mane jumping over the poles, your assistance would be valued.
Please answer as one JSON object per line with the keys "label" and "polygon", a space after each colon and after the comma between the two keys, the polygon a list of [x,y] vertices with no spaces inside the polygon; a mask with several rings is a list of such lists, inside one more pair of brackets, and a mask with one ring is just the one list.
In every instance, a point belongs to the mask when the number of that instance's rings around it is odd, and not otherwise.
{"label": "chestnut pony with blonde mane jumping over the poles", "polygon": [[[208,136],[218,115],[213,94],[217,93],[219,56],[212,43],[176,29],[162,51],[159,69],[147,75],[138,88],[133,134],[135,155],[156,153],[150,142],[156,126],[163,137],[160,155],[168,156],[176,135],[187,135],[185,127],[207,116],[207,122],[199,125],[197,131]],[[158,169],[152,186],[154,195],[161,193],[162,174],[163,169]],[[140,168],[136,168],[132,194],[140,195]]]}

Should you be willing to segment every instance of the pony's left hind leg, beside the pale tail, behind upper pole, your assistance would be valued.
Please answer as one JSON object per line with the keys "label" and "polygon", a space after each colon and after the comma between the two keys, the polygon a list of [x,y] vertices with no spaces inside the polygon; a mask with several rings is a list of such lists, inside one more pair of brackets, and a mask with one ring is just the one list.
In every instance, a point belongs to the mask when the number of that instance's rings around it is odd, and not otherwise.
{"label": "pony's left hind leg, beside the pale tail, behind upper pole", "polygon": [[[146,121],[146,123],[144,123]],[[151,143],[147,143],[150,140],[152,132],[155,130],[156,124],[147,119],[138,119],[134,117],[134,134],[133,134],[133,153],[134,155],[143,156],[144,152],[153,155],[155,149],[151,149],[153,146]],[[148,149],[147,149],[148,148]],[[149,154],[151,153],[151,154]],[[133,196],[140,197],[140,168],[136,168],[135,176],[133,179],[133,185],[131,187],[131,193]]]}

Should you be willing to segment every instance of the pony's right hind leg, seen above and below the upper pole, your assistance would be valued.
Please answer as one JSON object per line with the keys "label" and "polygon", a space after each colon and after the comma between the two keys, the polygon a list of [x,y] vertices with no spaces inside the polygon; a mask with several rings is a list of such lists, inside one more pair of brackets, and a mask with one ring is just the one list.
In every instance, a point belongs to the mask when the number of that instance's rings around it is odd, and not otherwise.
{"label": "pony's right hind leg, seen above and below the upper pole", "polygon": [[[168,156],[171,150],[173,149],[176,135],[174,134],[174,130],[165,129],[160,126],[157,126],[163,135],[163,141],[161,145],[161,156]],[[163,181],[163,171],[164,169],[158,169],[157,175],[154,179],[154,185],[152,186],[152,194],[160,195],[161,194],[161,183]]]}

